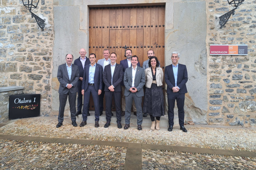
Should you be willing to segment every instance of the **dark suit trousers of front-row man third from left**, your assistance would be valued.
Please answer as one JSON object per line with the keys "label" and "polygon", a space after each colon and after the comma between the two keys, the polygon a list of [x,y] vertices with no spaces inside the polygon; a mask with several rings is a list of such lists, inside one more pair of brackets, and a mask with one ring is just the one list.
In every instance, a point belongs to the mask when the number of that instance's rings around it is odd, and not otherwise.
{"label": "dark suit trousers of front-row man third from left", "polygon": [[121,91],[105,91],[106,100],[106,121],[111,121],[111,108],[112,108],[112,98],[114,97],[115,107],[116,107],[116,122],[121,122]]}

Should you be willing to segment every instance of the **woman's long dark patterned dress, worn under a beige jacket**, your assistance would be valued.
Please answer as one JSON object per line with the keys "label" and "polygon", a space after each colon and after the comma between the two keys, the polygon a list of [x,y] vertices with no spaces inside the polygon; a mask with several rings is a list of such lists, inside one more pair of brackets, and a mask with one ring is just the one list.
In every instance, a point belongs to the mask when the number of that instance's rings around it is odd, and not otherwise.
{"label": "woman's long dark patterned dress, worn under a beige jacket", "polygon": [[[155,75],[151,68],[153,80],[156,80],[156,71]],[[163,90],[162,86],[157,86],[157,84],[152,83],[151,88],[145,89],[144,95],[144,104],[143,104],[143,113],[148,113],[154,117],[164,116],[165,109],[163,105]]]}

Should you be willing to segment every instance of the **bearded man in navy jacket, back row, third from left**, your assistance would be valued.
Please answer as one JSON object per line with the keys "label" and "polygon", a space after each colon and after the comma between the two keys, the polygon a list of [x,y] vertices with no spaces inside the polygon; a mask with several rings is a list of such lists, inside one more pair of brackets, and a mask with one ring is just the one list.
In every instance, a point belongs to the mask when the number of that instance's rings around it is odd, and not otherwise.
{"label": "bearded man in navy jacket, back row, third from left", "polygon": [[[126,49],[125,50],[125,57],[126,57],[126,59],[120,61],[120,65],[123,67],[123,74],[125,73],[125,70],[127,68],[131,67],[131,56],[132,56],[131,49]],[[140,67],[140,62],[139,61],[138,61],[137,66]],[[123,78],[123,80],[124,80],[124,78]],[[121,114],[121,116],[124,116],[125,115],[125,95],[124,95],[125,85],[124,85],[124,81],[122,81],[121,87],[122,87],[122,92],[123,92],[123,97],[122,97],[122,114]],[[132,107],[133,107],[133,114],[135,116],[137,116],[137,109],[135,107],[134,101],[132,102]]]}

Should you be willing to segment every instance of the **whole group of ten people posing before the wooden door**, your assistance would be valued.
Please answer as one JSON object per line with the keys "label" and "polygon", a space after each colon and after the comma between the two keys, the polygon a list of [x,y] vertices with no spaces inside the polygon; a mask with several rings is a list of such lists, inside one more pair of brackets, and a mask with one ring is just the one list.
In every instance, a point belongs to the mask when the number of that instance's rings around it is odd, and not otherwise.
{"label": "whole group of ten people posing before the wooden door", "polygon": [[[67,54],[66,63],[58,67],[60,106],[56,128],[62,125],[67,98],[69,98],[72,125],[77,126],[76,116],[82,114],[83,121],[80,126],[85,126],[87,116],[90,116],[90,95],[92,95],[94,101],[95,127],[99,127],[99,116],[103,114],[103,98],[105,95],[106,123],[104,128],[110,126],[111,117],[113,116],[111,112],[112,98],[114,98],[118,128],[122,128],[122,116],[125,116],[124,129],[130,127],[131,107],[133,107],[133,114],[137,116],[138,130],[142,130],[142,119],[147,114],[150,115],[152,121],[151,130],[160,129],[160,117],[165,115],[162,90],[164,74],[153,50],[148,50],[148,60],[143,62],[143,68],[140,67],[138,56],[132,55],[131,49],[125,50],[126,59],[120,61],[120,64],[116,63],[116,53],[110,53],[109,49],[103,50],[104,58],[98,60],[97,64],[96,54],[91,53],[87,58],[85,49],[81,49],[79,53],[80,57],[74,61],[74,64],[72,64],[73,55]],[[176,100],[180,129],[187,132],[184,127],[184,100],[185,93],[187,93],[186,82],[188,77],[186,66],[179,64],[179,59],[180,54],[173,52],[171,54],[172,64],[165,68],[168,131],[173,130]],[[76,93],[77,112],[74,104]],[[121,93],[123,94],[122,100]],[[142,107],[143,96],[144,103]],[[83,110],[82,104],[84,104]]]}

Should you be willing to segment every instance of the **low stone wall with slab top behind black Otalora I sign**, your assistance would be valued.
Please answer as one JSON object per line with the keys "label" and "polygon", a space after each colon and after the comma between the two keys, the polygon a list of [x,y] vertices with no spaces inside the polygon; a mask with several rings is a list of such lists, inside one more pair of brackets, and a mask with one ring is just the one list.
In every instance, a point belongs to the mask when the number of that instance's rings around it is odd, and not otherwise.
{"label": "low stone wall with slab top behind black Otalora I sign", "polygon": [[0,87],[0,123],[9,119],[10,95],[23,94],[23,87]]}

